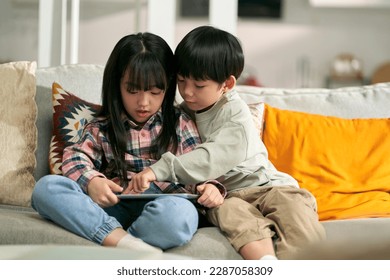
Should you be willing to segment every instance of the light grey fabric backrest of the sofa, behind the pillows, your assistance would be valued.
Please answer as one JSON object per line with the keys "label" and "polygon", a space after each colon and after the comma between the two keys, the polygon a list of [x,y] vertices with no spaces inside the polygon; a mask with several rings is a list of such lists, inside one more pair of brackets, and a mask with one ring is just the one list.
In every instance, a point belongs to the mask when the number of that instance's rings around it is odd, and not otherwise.
{"label": "light grey fabric backrest of the sofa, behind the pillows", "polygon": [[[95,64],[37,69],[36,180],[49,172],[48,158],[53,114],[52,83],[57,82],[66,91],[86,101],[100,104],[103,71],[104,66]],[[248,104],[265,102],[281,109],[343,118],[390,117],[390,83],[340,89],[278,89],[241,85],[236,89]],[[177,100],[180,101],[180,98]]]}

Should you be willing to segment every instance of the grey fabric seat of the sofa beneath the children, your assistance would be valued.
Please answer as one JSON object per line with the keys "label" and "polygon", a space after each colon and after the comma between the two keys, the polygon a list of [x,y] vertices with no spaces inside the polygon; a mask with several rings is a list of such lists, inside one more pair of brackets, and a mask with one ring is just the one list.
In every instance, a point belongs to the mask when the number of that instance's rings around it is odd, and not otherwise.
{"label": "grey fabric seat of the sofa beneath the children", "polygon": [[[27,207],[0,205],[0,244],[67,244],[98,246],[84,238],[62,229],[40,217]],[[382,258],[384,249],[390,248],[388,218],[367,218],[322,222],[328,240],[324,244],[307,248],[296,258],[343,259],[365,256],[368,259]],[[354,246],[371,244],[366,250],[355,250]],[[345,252],[336,252],[337,248]],[[359,247],[362,248],[362,247]],[[369,250],[368,250],[368,249]],[[377,248],[382,248],[377,252]],[[323,251],[319,251],[323,250]],[[383,251],[383,252],[382,252]],[[233,249],[223,233],[216,227],[200,228],[190,243],[167,250],[168,253],[188,256],[195,259],[242,259]],[[370,254],[370,255],[367,255]],[[388,253],[387,255],[388,256]]]}

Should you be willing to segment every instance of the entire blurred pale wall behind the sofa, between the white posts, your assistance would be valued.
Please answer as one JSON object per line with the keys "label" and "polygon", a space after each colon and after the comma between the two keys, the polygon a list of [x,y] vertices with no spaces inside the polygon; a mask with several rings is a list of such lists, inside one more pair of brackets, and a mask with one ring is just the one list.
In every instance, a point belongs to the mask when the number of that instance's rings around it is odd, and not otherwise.
{"label": "entire blurred pale wall behind the sofa, between the white posts", "polygon": [[[79,61],[104,64],[118,39],[137,31],[134,11],[125,1],[81,2]],[[143,9],[139,30],[146,29],[146,16]],[[0,1],[0,61],[37,59],[37,17],[33,0]],[[176,41],[201,24],[207,19],[178,18]],[[244,47],[246,72],[264,86],[322,87],[340,53],[361,59],[367,78],[390,61],[389,26],[390,8],[313,8],[307,0],[285,0],[282,19],[239,19],[237,36]],[[300,75],[302,62],[309,69],[307,76]]]}

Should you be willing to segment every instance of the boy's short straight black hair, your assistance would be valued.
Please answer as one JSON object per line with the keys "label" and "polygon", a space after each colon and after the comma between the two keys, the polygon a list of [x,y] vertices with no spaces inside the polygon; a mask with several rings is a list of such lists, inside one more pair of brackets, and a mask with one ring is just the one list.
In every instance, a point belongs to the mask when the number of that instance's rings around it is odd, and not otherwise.
{"label": "boy's short straight black hair", "polygon": [[244,54],[234,35],[212,26],[200,26],[176,47],[175,64],[177,73],[183,77],[222,84],[230,75],[240,77]]}

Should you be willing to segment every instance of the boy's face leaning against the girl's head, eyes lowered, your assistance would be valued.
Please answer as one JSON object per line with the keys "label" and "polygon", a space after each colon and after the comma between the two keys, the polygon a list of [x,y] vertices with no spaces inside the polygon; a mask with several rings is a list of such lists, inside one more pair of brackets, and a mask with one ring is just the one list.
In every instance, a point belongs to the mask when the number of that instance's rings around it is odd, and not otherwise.
{"label": "boy's face leaning against the girl's head, eyes lowered", "polygon": [[212,80],[194,80],[177,75],[177,86],[189,109],[206,110],[214,105],[224,93],[224,85]]}

